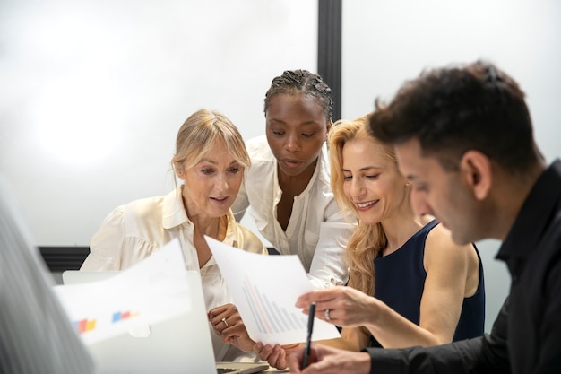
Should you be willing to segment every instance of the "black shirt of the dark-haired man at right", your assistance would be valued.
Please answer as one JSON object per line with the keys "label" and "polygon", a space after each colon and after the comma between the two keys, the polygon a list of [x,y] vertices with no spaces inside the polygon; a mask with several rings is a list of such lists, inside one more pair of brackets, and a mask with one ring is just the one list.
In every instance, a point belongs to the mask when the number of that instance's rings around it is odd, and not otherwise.
{"label": "black shirt of the dark-haired man at right", "polygon": [[497,258],[512,283],[490,335],[427,348],[367,348],[371,373],[561,373],[560,160],[531,189]]}

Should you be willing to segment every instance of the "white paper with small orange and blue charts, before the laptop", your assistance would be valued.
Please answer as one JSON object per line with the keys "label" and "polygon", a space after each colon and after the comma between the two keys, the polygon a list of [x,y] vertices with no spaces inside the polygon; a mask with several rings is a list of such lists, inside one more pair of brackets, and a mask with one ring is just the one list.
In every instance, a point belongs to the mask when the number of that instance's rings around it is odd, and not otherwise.
{"label": "white paper with small orange and blue charts, before the laptop", "polygon": [[175,239],[108,280],[54,290],[85,344],[125,333],[147,336],[151,324],[193,308],[185,264]]}

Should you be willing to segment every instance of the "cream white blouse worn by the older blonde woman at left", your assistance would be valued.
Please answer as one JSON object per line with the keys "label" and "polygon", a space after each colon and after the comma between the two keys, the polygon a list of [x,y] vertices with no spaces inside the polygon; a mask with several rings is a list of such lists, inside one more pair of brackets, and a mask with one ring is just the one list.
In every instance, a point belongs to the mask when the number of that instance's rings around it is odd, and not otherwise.
{"label": "cream white blouse worn by the older blonde woman at left", "polygon": [[[123,270],[177,238],[187,269],[200,270],[206,309],[232,302],[214,257],[199,269],[193,243],[194,224],[187,217],[181,197],[183,187],[185,185],[166,196],[135,200],[109,213],[91,239],[91,252],[81,270]],[[267,254],[261,240],[237,223],[231,211],[223,243],[248,252]],[[241,354],[235,346],[224,344],[220,336],[214,334],[210,323],[209,328],[217,361],[230,361]]]}

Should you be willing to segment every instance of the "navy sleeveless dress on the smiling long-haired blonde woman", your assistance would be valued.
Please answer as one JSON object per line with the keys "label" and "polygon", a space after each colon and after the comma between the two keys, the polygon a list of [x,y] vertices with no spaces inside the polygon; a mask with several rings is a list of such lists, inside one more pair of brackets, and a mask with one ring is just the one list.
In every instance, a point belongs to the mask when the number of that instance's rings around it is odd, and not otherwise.
{"label": "navy sleeveless dress on the smiling long-haired blonde woman", "polygon": [[[395,252],[374,260],[375,298],[419,326],[420,300],[425,287],[427,272],[423,266],[425,240],[428,232],[438,222],[428,222]],[[475,247],[475,245],[474,245]],[[456,326],[453,340],[483,335],[485,328],[485,283],[479,251],[479,284],[477,291],[463,299],[462,314]],[[380,347],[374,337],[371,346]]]}

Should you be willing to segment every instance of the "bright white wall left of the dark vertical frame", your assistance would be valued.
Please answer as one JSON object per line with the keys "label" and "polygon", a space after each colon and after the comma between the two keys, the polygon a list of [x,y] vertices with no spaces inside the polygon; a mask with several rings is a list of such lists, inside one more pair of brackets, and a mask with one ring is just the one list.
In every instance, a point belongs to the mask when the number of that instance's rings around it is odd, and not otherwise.
{"label": "bright white wall left of the dark vertical frame", "polygon": [[87,246],[118,204],[173,188],[192,112],[262,135],[272,78],[316,59],[317,0],[3,1],[0,170],[38,245]]}

